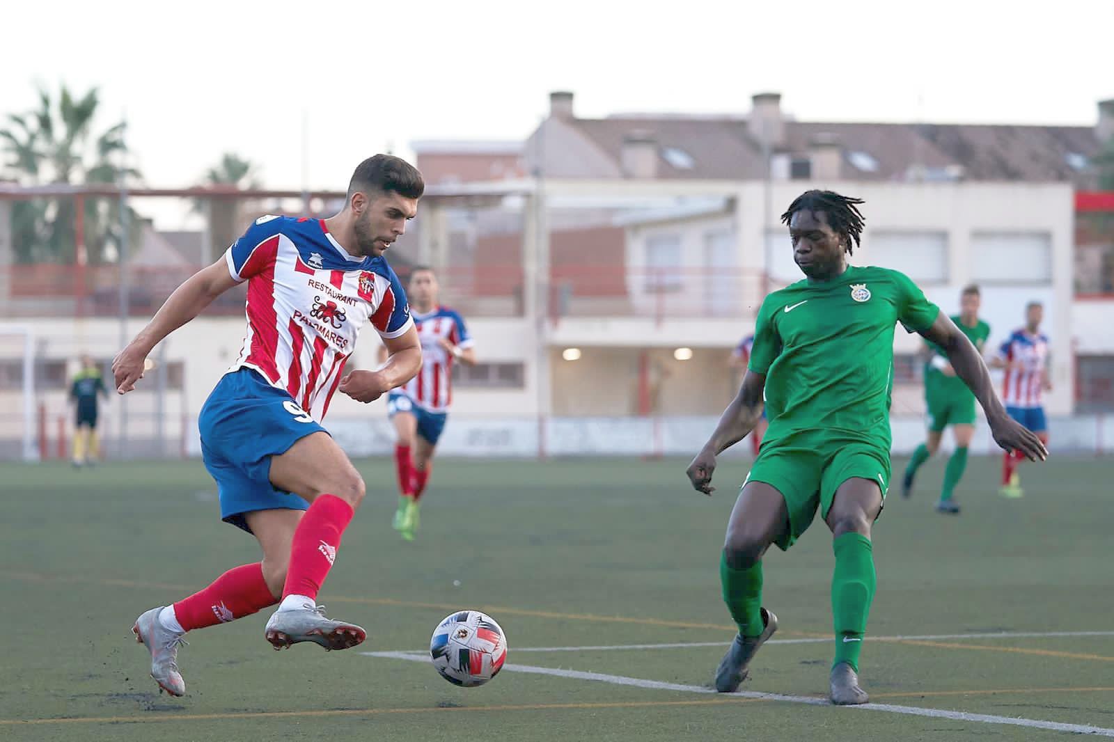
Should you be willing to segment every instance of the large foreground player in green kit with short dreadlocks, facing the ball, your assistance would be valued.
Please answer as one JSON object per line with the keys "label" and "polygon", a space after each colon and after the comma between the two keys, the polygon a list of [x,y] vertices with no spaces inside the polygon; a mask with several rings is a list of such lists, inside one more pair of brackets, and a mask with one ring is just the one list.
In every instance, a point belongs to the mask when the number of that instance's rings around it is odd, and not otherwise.
{"label": "large foreground player in green kit with short dreadlocks, facing the ball", "polygon": [[809,191],[782,215],[807,279],[762,302],[739,394],[688,466],[693,487],[710,495],[715,457],[751,431],[765,400],[770,427],[731,512],[720,564],[724,602],[739,626],[715,674],[724,693],[739,687],[778,628],[776,616],[762,607],[762,556],[771,544],[788,549],[819,508],[836,553],[830,697],[868,700],[858,663],[876,582],[870,528],[889,487],[897,322],[944,349],[999,446],[1032,460],[1047,456],[1036,435],[1006,414],[967,335],[920,289],[897,271],[848,265],[862,233],[861,203]]}

